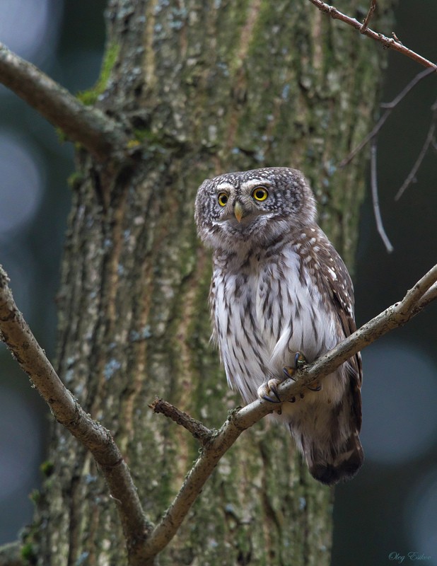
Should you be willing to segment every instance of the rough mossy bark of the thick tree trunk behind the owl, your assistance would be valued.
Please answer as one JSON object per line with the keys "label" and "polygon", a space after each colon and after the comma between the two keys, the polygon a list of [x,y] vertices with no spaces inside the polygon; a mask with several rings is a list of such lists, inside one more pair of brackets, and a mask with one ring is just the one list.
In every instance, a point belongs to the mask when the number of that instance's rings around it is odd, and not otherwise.
{"label": "rough mossy bark of the thick tree trunk behind the owl", "polygon": [[[337,7],[363,18],[358,6]],[[334,163],[371,124],[381,51],[305,0],[111,0],[107,30],[115,60],[97,105],[138,153],[108,174],[78,150],[58,369],[112,430],[156,521],[199,447],[147,404],[159,395],[218,427],[240,402],[209,345],[197,187],[235,169],[301,168],[351,267],[363,164]],[[116,502],[91,456],[54,424],[48,458],[28,535],[37,564],[125,565]],[[332,491],[266,421],[223,458],[160,564],[327,565],[331,512]]]}

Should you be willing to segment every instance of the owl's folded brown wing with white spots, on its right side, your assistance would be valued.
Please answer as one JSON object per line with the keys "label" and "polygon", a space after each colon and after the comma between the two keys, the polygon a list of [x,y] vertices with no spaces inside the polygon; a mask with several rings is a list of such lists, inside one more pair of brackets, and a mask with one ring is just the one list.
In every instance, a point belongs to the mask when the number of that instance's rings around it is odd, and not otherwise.
{"label": "owl's folded brown wing with white spots, on its right side", "polygon": [[[349,272],[340,258],[337,250],[326,240],[327,245],[322,246],[317,253],[319,259],[320,284],[325,287],[327,296],[332,300],[332,306],[337,316],[339,335],[348,337],[356,330],[354,318],[354,286]],[[363,367],[361,354],[351,357],[347,364],[351,378],[351,395],[353,399],[356,423],[361,428],[361,383],[363,381]]]}

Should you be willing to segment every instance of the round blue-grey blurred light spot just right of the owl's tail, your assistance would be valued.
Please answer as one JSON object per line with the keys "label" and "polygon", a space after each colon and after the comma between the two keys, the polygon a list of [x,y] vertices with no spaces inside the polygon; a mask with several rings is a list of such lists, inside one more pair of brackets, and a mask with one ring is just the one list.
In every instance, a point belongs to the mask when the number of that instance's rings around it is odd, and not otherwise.
{"label": "round blue-grey blurred light spot just right of the owl's tail", "polygon": [[421,456],[437,433],[436,366],[402,342],[376,344],[363,355],[366,457],[398,464]]}

